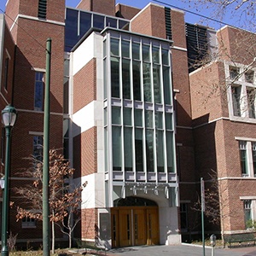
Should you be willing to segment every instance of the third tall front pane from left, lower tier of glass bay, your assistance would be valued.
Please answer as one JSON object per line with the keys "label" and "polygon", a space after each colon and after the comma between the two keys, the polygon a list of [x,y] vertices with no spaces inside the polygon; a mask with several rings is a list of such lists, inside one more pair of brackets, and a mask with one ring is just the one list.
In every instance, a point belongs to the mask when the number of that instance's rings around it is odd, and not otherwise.
{"label": "third tall front pane from left, lower tier of glass bay", "polygon": [[143,130],[135,129],[136,172],[143,172]]}

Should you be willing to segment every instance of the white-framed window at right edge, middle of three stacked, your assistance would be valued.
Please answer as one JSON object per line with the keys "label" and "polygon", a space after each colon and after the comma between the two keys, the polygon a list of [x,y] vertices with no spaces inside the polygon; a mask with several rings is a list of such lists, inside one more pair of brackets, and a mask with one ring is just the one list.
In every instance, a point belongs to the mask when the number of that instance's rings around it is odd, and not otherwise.
{"label": "white-framed window at right edge, middle of three stacked", "polygon": [[256,142],[239,142],[242,177],[256,177]]}

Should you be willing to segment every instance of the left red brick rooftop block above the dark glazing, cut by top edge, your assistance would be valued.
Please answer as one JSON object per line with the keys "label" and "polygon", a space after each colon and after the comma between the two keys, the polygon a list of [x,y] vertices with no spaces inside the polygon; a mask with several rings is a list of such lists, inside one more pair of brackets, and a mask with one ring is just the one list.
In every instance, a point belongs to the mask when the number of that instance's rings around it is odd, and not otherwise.
{"label": "left red brick rooftop block above the dark glazing, cut by top edge", "polygon": [[114,16],[114,5],[115,0],[83,0],[78,4],[77,8]]}

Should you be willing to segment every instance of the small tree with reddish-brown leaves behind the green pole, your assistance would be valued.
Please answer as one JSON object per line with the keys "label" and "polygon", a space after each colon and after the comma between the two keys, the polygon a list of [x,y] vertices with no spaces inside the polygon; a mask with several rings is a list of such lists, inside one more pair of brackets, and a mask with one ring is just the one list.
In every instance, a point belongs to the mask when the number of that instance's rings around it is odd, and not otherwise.
{"label": "small tree with reddish-brown leaves behind the green pole", "polygon": [[[31,180],[31,184],[14,188],[16,195],[20,195],[22,202],[17,207],[17,221],[22,218],[43,218],[43,162],[32,156],[31,168],[22,172],[22,177]],[[57,150],[49,150],[49,211],[52,227],[52,251],[55,251],[55,224],[61,228],[61,232],[69,237],[69,247],[72,244],[72,233],[80,218],[73,222],[73,214],[79,213],[81,204],[82,186],[69,183],[73,177],[74,169],[69,166],[62,154]],[[85,186],[84,183],[83,186]],[[79,214],[78,214],[79,216]],[[66,231],[67,229],[67,231]]]}

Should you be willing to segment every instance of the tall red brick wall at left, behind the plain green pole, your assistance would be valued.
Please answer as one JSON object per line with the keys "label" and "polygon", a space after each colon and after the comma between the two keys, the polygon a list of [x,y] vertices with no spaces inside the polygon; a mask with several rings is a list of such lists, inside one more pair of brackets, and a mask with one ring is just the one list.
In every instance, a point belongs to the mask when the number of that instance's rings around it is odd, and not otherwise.
{"label": "tall red brick wall at left, behind the plain green pole", "polygon": [[[38,15],[36,1],[9,0],[7,13],[15,20],[18,11],[22,15]],[[38,3],[38,1],[37,1]],[[64,21],[65,1],[48,1],[47,18],[55,21]],[[12,22],[9,22],[9,26]],[[49,148],[61,149],[63,147],[63,49],[64,49],[64,26],[46,23],[39,20],[20,18],[19,26],[14,26],[12,31],[17,44],[15,55],[15,80],[14,80],[14,106],[18,109],[18,117],[12,133],[11,144],[11,186],[18,187],[22,184],[17,172],[24,172],[29,166],[33,147],[33,134],[30,131],[44,132],[44,113],[34,111],[34,68],[45,69],[46,40],[52,38],[51,76],[50,76],[50,125],[49,125]],[[10,201],[16,199],[11,196]],[[17,207],[17,205],[15,206]],[[42,236],[38,229],[21,230],[21,224],[16,223],[16,209],[10,209],[10,230],[22,234],[23,238],[33,239]],[[38,232],[39,230],[39,232]],[[27,233],[26,233],[27,232]],[[59,236],[59,235],[58,235]],[[18,237],[18,238],[19,238]],[[60,234],[59,237],[62,237]],[[22,238],[22,237],[20,237]]]}

